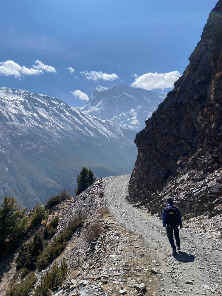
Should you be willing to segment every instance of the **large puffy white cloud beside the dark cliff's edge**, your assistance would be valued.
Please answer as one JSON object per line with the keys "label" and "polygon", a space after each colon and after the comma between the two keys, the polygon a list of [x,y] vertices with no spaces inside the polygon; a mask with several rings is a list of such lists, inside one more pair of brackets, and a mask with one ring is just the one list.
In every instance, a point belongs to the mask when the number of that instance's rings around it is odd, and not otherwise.
{"label": "large puffy white cloud beside the dark cliff's edge", "polygon": [[167,89],[173,87],[173,83],[181,76],[178,71],[169,73],[147,73],[139,76],[133,81],[131,86],[141,87],[142,89]]}

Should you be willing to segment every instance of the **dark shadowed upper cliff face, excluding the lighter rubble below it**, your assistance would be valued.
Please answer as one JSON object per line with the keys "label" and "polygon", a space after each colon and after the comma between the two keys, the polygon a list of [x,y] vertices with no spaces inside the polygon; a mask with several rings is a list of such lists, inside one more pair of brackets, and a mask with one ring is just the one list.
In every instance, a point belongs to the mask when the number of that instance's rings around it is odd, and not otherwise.
{"label": "dark shadowed upper cliff face, excluding the lighter rubble below it", "polygon": [[[184,157],[199,149],[205,152],[197,153],[196,158],[209,157],[215,155],[216,147],[221,148],[222,0],[210,12],[189,61],[173,91],[136,135],[138,155],[129,183],[133,202],[146,200],[148,204],[153,200],[152,194],[161,190],[170,176],[185,169]],[[215,158],[216,169],[220,161],[221,157]]]}

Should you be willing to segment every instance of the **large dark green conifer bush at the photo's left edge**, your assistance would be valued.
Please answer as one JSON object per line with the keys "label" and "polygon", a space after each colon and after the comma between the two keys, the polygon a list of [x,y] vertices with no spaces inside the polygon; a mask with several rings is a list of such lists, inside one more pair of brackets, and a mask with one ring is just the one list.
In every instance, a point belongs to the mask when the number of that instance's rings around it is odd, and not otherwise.
{"label": "large dark green conifer bush at the photo's left edge", "polygon": [[0,250],[3,252],[14,249],[23,235],[28,222],[25,211],[26,208],[18,207],[14,197],[4,197],[0,206]]}

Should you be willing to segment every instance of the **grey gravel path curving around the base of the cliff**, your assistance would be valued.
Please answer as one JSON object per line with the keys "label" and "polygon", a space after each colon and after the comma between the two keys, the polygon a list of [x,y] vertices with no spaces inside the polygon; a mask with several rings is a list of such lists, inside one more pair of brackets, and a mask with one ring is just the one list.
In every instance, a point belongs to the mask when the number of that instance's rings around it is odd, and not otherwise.
{"label": "grey gravel path curving around the base of the cliff", "polygon": [[[116,220],[138,234],[139,240],[147,244],[153,263],[165,271],[158,294],[222,294],[221,246],[215,247],[200,232],[183,228],[180,230],[181,252],[172,254],[162,221],[156,215],[132,207],[125,199],[129,178],[130,175],[110,178],[105,187],[105,199]],[[193,284],[186,284],[187,280]]]}

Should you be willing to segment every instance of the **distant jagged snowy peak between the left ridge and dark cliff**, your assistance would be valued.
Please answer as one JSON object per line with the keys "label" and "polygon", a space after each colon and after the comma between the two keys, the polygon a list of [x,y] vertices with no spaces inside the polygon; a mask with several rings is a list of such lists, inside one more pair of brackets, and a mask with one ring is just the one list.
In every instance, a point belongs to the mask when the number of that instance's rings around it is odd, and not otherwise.
{"label": "distant jagged snowy peak between the left ridge and dark cliff", "polygon": [[140,131],[166,94],[116,84],[111,89],[97,86],[89,100],[77,109],[104,120],[115,120]]}

